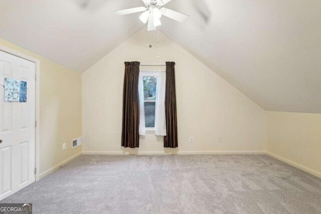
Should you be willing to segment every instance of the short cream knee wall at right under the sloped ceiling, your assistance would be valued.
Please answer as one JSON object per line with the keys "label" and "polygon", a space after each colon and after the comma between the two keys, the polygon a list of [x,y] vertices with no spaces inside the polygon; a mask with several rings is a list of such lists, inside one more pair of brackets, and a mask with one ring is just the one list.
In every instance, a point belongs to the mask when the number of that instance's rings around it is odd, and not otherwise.
{"label": "short cream knee wall at right under the sloped ceiling", "polygon": [[267,112],[267,151],[321,177],[321,114]]}

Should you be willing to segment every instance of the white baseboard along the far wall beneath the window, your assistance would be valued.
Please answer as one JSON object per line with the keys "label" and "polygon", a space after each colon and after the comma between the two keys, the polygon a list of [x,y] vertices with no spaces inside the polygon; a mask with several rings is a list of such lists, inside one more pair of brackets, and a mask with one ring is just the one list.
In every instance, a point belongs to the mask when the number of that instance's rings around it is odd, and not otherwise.
{"label": "white baseboard along the far wall beneath the window", "polygon": [[138,153],[122,152],[122,151],[83,151],[82,154],[92,155],[167,155],[167,154],[266,154],[265,151],[178,151],[178,152],[162,152],[162,151],[143,151]]}

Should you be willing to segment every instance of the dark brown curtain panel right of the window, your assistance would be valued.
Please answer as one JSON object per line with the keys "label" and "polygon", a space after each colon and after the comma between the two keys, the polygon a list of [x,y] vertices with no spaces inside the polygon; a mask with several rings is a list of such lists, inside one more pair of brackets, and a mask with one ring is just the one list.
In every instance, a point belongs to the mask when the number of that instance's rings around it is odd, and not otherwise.
{"label": "dark brown curtain panel right of the window", "polygon": [[166,62],[166,93],[165,93],[166,136],[165,148],[178,147],[176,89],[175,89],[175,62]]}

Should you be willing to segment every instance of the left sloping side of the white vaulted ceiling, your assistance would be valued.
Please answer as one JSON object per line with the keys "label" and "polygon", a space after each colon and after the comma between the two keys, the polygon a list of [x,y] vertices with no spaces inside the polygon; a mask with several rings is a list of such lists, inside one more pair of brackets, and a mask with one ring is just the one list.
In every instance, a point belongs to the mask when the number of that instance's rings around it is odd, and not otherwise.
{"label": "left sloping side of the white vaulted ceiling", "polygon": [[138,14],[113,11],[140,6],[139,0],[0,0],[0,37],[83,72],[143,27]]}

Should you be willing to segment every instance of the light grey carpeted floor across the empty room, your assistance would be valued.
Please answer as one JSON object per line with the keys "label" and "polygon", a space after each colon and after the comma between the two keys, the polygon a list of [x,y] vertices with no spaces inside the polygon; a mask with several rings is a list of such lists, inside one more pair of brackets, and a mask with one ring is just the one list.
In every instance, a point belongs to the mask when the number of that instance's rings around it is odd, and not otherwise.
{"label": "light grey carpeted floor across the empty room", "polygon": [[321,179],[267,155],[82,155],[1,202],[34,213],[321,213]]}

